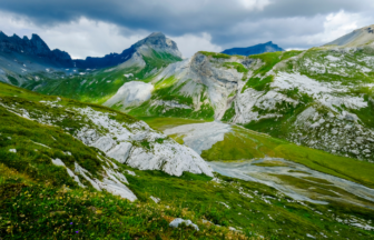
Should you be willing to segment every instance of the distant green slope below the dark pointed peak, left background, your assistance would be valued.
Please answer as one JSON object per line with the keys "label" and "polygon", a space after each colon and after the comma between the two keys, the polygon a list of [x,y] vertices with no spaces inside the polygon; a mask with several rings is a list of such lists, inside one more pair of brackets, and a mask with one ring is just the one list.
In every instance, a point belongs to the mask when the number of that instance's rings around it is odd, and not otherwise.
{"label": "distant green slope below the dark pointed peak, left background", "polygon": [[[35,89],[35,91],[43,94],[61,96],[80,100],[83,102],[92,102],[101,104],[110,99],[117,90],[127,81],[141,79],[148,81],[156,72],[154,69],[161,69],[171,62],[180,61],[173,54],[166,52],[157,52],[152,50],[149,56],[142,56],[146,62],[145,68],[137,66],[121,68],[120,66],[100,69],[94,71],[83,71],[73,76],[66,76],[65,79],[48,79],[40,77],[40,81],[28,81],[27,89]],[[151,73],[152,72],[152,73]],[[132,77],[126,78],[124,74],[132,73]]]}

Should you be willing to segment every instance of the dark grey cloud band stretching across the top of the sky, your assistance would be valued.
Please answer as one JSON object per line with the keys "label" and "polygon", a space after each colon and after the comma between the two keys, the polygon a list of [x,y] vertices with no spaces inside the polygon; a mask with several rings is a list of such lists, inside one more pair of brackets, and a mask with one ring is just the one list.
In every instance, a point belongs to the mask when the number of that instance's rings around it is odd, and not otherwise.
{"label": "dark grey cloud band stretching across the top of the sky", "polygon": [[273,40],[287,48],[294,44],[286,41],[289,36],[323,31],[328,13],[366,13],[373,8],[372,0],[269,1],[263,10],[250,10],[239,0],[1,0],[0,10],[24,16],[45,28],[86,17],[116,23],[124,28],[124,34],[139,30],[163,31],[171,37],[208,32],[220,46]]}

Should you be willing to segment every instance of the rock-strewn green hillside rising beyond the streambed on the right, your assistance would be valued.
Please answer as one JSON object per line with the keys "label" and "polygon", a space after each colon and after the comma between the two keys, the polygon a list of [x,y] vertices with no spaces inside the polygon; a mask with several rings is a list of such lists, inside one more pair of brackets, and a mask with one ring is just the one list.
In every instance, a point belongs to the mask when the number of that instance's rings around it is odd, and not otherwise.
{"label": "rock-strewn green hillside rising beyond the streambed on the right", "polygon": [[198,52],[147,80],[147,98],[117,93],[107,106],[137,117],[222,120],[374,161],[373,58],[370,47],[249,57]]}

